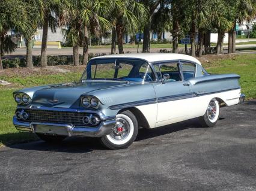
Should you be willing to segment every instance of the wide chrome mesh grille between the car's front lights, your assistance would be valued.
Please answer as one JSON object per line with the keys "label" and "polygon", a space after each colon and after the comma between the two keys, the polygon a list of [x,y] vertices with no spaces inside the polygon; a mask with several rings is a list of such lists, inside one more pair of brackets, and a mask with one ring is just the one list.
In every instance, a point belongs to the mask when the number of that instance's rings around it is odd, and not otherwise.
{"label": "wide chrome mesh grille between the car's front lights", "polygon": [[[27,122],[71,124],[74,126],[85,126],[85,124],[83,123],[83,117],[90,115],[90,113],[78,113],[73,111],[48,111],[48,110],[25,110],[25,111],[29,115],[28,120],[26,120]],[[92,125],[87,125],[87,126],[92,126]]]}

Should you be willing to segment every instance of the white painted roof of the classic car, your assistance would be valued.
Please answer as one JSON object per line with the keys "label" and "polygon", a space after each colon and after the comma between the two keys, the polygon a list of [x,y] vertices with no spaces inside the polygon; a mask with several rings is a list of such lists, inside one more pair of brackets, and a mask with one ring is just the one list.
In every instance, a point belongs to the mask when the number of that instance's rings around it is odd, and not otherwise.
{"label": "white painted roof of the classic car", "polygon": [[157,62],[165,60],[190,60],[192,62],[198,63],[201,65],[200,61],[195,57],[188,56],[186,54],[174,54],[174,53],[132,53],[132,54],[109,54],[105,56],[97,56],[92,59],[98,58],[137,58],[144,59],[147,62]]}

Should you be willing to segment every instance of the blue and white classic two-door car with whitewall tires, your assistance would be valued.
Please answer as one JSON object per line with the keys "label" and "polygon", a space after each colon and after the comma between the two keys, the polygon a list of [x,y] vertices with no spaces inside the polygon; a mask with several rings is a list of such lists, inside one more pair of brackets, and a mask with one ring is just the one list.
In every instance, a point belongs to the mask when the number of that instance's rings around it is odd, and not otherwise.
{"label": "blue and white classic two-door car with whitewall tires", "polygon": [[13,124],[44,141],[98,137],[107,148],[127,148],[139,128],[194,118],[215,126],[220,107],[244,101],[239,78],[208,74],[200,61],[184,54],[94,57],[79,82],[14,92]]}

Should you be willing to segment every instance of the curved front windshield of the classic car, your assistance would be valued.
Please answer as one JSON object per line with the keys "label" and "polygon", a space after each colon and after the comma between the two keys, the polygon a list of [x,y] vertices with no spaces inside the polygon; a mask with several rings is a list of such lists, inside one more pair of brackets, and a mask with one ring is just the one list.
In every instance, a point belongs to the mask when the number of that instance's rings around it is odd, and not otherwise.
{"label": "curved front windshield of the classic car", "polygon": [[81,80],[154,81],[150,65],[144,60],[99,59],[91,60]]}

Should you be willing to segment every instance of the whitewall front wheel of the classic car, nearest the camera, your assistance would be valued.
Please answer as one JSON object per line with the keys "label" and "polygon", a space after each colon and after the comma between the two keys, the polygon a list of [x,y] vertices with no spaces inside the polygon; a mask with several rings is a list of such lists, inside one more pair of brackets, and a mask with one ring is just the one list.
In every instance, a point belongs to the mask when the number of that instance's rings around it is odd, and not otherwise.
{"label": "whitewall front wheel of the classic car, nearest the camera", "polygon": [[111,134],[100,138],[101,143],[110,149],[127,148],[138,134],[138,122],[134,114],[127,110],[117,114]]}

